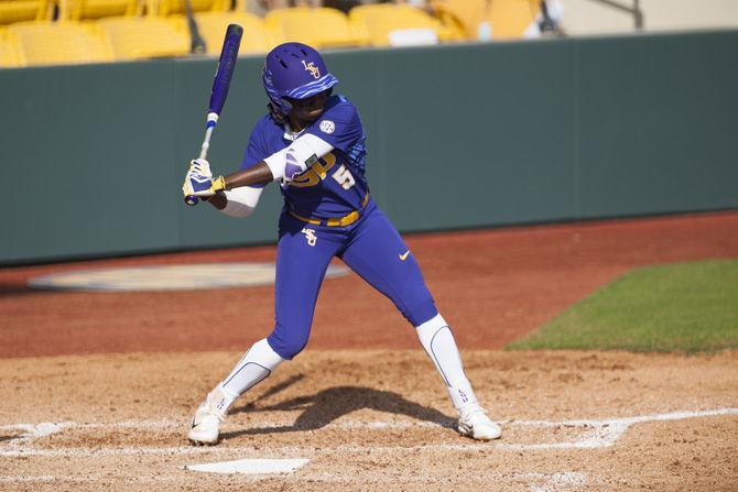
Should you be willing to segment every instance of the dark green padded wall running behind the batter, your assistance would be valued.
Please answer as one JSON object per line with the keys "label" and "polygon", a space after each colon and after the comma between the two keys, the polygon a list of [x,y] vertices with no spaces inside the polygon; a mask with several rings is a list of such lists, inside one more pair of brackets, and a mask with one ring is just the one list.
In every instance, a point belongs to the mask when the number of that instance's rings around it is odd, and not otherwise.
{"label": "dark green padded wall running behind the batter", "polygon": [[[738,207],[738,31],[326,54],[403,231]],[[183,205],[216,61],[0,70],[0,264],[273,242],[281,197]],[[264,111],[242,57],[209,160]]]}

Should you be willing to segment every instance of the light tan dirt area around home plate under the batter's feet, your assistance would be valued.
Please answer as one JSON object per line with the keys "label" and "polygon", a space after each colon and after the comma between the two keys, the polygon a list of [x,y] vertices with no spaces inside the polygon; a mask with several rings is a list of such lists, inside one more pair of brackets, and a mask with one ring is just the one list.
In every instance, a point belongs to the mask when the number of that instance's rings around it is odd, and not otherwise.
{"label": "light tan dirt area around home plate under the batter's feet", "polygon": [[[188,446],[193,403],[239,356],[0,361],[0,488],[736,488],[738,353],[467,352],[469,376],[504,429],[480,444],[451,428],[453,408],[420,351],[316,350],[239,401],[218,447]],[[178,468],[245,458],[310,462],[276,478]]]}

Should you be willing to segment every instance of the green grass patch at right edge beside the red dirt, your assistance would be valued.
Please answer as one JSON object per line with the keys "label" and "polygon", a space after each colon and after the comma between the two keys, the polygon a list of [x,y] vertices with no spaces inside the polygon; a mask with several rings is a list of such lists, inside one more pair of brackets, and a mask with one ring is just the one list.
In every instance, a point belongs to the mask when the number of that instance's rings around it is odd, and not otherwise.
{"label": "green grass patch at right edge beside the red dirt", "polygon": [[716,351],[738,347],[738,260],[638,269],[508,349]]}

